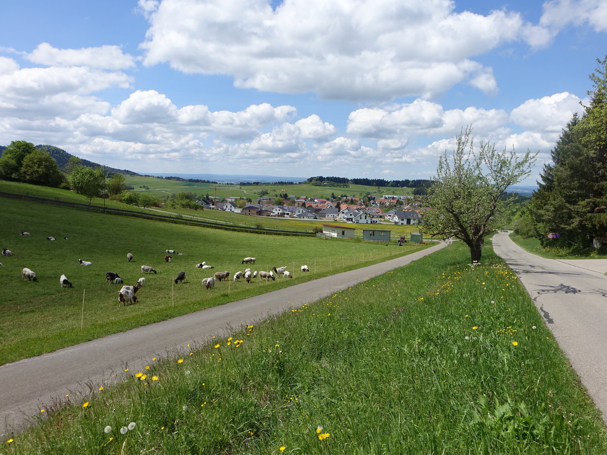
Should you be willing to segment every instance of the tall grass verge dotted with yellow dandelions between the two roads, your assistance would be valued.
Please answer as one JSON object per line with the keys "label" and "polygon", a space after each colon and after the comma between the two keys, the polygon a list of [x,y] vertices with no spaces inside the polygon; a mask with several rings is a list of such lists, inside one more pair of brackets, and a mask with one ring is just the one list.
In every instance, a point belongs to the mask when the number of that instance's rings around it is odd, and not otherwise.
{"label": "tall grass verge dotted with yellow dandelions between the two roads", "polygon": [[119,385],[42,407],[0,453],[605,454],[599,411],[517,277],[488,247],[468,258],[455,242],[125,365]]}

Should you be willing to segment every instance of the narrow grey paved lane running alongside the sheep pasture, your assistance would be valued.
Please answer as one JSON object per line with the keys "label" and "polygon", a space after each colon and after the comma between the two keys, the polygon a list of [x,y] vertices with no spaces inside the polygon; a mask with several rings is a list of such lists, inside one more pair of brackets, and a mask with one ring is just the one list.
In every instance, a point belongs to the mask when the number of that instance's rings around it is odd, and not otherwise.
{"label": "narrow grey paved lane running alongside the sheep pasture", "polygon": [[152,357],[177,355],[188,343],[205,343],[212,335],[255,323],[269,315],[299,308],[340,289],[383,274],[443,248],[437,244],[423,251],[239,302],[186,314],[43,356],[0,366],[0,437],[13,428],[29,425],[30,416],[66,394],[80,399],[101,384],[124,376],[124,366],[139,371]]}

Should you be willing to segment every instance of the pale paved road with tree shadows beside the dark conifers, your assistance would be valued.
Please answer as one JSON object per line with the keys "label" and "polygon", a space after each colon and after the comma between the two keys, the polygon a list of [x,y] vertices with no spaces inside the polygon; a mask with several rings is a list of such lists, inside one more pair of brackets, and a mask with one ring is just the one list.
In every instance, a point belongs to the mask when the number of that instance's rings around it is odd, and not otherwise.
{"label": "pale paved road with tree shadows beside the dark conifers", "polygon": [[607,423],[607,260],[557,260],[493,236]]}

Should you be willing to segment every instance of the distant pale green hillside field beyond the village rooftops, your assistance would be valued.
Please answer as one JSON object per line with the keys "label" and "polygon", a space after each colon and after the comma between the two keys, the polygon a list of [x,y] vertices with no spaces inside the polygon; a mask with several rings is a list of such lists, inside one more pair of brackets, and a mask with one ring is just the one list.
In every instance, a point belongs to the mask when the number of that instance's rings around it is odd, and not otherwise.
{"label": "distant pale green hillside field beyond the village rooftops", "polygon": [[[212,183],[191,183],[185,181],[165,180],[155,177],[132,177],[126,176],[126,183],[132,185],[137,192],[146,192],[152,196],[159,197],[161,195],[171,195],[180,191],[194,192],[197,195],[215,196],[217,197],[245,197],[256,199],[259,197],[260,191],[265,189],[268,191],[266,197],[277,197],[280,193],[287,193],[296,197],[307,196],[314,198],[328,199],[331,193],[339,196],[341,194],[364,197],[367,193],[381,197],[384,194],[405,195],[413,194],[413,188],[392,188],[378,187],[365,185],[352,185],[350,187],[341,186],[313,186],[310,184],[294,184],[294,185],[273,185],[260,184],[252,186],[212,184]],[[149,189],[143,189],[142,186],[148,186]]]}

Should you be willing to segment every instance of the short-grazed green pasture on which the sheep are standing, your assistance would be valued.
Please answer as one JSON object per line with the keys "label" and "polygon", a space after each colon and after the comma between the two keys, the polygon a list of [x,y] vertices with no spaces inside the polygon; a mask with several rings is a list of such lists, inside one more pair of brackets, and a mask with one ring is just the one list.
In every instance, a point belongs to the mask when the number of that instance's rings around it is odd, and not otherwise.
{"label": "short-grazed green pasture on which the sheep are standing", "polygon": [[[4,267],[0,267],[0,365],[428,246],[254,235],[1,198],[0,211],[2,248],[13,252],[11,257],[2,257]],[[32,235],[22,237],[21,231]],[[46,240],[49,235],[57,240]],[[166,249],[182,254],[172,255],[166,263]],[[134,255],[131,263],[127,252]],[[242,259],[248,256],[256,257],[256,264],[243,265]],[[79,258],[92,265],[81,266]],[[202,261],[214,269],[195,268]],[[152,266],[158,273],[142,274],[141,265]],[[302,273],[302,265],[308,265],[310,272]],[[230,277],[209,290],[201,283],[217,271],[234,275],[247,267],[270,271],[273,266],[287,266],[293,278],[246,283]],[[36,272],[38,281],[24,281],[24,267]],[[186,272],[185,283],[175,285],[181,271]],[[139,302],[119,308],[121,285],[109,285],[107,272],[117,272],[129,286],[146,278],[137,293]],[[73,288],[61,288],[61,274]]]}

